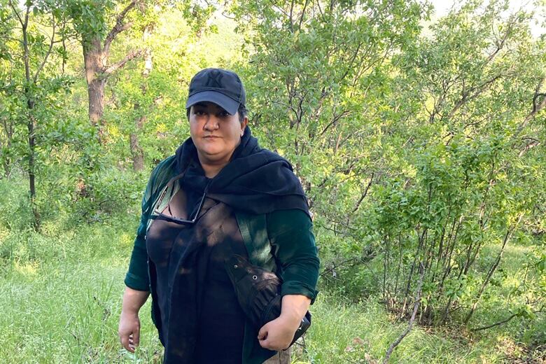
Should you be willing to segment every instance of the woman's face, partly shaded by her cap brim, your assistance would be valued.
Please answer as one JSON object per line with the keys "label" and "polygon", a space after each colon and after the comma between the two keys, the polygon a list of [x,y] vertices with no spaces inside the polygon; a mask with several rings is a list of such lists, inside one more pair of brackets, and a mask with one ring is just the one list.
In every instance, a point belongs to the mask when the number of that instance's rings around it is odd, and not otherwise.
{"label": "woman's face, partly shaded by her cap brim", "polygon": [[212,102],[199,102],[190,109],[190,135],[200,162],[228,164],[241,141],[248,119],[239,122],[239,114],[230,115]]}

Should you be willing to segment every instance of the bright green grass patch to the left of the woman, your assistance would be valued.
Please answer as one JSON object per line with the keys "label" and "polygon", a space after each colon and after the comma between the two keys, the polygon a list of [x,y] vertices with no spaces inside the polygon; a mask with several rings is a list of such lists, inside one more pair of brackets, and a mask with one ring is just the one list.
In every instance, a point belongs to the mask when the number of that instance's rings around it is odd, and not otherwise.
{"label": "bright green grass patch to the left of the woman", "polygon": [[[108,230],[108,229],[107,229]],[[112,230],[109,230],[113,232]],[[94,235],[87,235],[94,233]],[[27,236],[27,248],[53,250],[40,260],[15,258],[3,267],[0,287],[0,361],[2,363],[130,363],[120,349],[117,323],[127,259],[101,245],[119,244],[99,228],[82,229],[72,239]],[[25,237],[23,237],[25,238]],[[51,243],[51,244],[47,244]],[[32,247],[29,247],[32,246]],[[128,256],[128,255],[127,255]],[[160,349],[149,319],[141,318],[148,342],[139,357],[148,363]]]}

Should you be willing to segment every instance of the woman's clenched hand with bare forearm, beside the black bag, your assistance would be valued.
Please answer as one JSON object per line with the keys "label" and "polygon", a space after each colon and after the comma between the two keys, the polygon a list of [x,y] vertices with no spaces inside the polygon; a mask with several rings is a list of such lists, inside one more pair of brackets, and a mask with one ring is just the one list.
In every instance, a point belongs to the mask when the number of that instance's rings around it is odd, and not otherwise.
{"label": "woman's clenched hand with bare forearm, beside the black bag", "polygon": [[304,295],[285,295],[281,316],[263,325],[258,332],[260,346],[276,351],[287,349],[297,328],[300,327],[310,302],[311,300]]}

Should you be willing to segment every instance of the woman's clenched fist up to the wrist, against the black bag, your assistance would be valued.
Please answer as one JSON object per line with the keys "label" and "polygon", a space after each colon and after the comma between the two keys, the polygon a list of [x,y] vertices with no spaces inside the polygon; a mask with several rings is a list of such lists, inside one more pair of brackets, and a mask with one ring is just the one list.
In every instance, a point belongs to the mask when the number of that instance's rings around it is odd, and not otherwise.
{"label": "woman's clenched fist up to the wrist, against the black bag", "polygon": [[300,321],[283,315],[269,321],[258,332],[260,345],[262,348],[275,351],[287,349],[300,326]]}

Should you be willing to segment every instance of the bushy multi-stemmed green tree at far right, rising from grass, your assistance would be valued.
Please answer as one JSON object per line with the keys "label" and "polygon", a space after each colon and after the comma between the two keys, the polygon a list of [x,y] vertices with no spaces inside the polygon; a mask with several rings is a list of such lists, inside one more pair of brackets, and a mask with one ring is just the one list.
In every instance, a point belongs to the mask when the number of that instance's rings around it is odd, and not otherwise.
{"label": "bushy multi-stemmed green tree at far right, rising from grass", "polygon": [[[388,132],[405,141],[398,153],[415,172],[379,195],[383,291],[404,314],[422,260],[426,323],[445,322],[460,305],[470,307],[470,321],[506,247],[524,239],[545,202],[531,172],[542,152],[529,153],[542,128],[530,124],[542,110],[543,43],[529,34],[531,14],[506,9],[501,1],[465,4],[393,59],[402,70],[394,102],[409,123]],[[480,263],[486,248],[496,253]]]}

